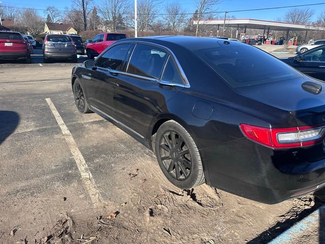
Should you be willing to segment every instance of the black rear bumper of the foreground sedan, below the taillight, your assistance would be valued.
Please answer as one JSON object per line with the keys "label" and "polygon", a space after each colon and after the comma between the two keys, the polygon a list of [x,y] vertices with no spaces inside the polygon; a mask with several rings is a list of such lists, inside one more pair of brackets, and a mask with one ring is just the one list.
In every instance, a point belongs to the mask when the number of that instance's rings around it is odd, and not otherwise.
{"label": "black rear bumper of the foreground sedan, below the taillight", "polygon": [[[321,145],[313,147],[323,153]],[[275,204],[325,187],[325,159],[304,161],[306,149],[273,150],[243,138],[200,153],[209,185],[258,202]]]}

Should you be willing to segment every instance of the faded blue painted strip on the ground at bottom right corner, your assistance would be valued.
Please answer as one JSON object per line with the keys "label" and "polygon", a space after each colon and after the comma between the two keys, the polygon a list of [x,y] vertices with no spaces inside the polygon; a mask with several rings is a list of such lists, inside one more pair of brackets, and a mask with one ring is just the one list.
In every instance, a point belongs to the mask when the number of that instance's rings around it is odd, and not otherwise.
{"label": "faded blue painted strip on the ground at bottom right corner", "polygon": [[322,217],[325,218],[325,205],[319,207],[317,210],[313,211],[310,215],[297,222],[289,229],[281,233],[278,237],[271,240],[269,244],[284,244],[290,243],[294,238],[297,238],[304,234],[304,232],[311,227],[318,227],[320,223],[320,213]]}

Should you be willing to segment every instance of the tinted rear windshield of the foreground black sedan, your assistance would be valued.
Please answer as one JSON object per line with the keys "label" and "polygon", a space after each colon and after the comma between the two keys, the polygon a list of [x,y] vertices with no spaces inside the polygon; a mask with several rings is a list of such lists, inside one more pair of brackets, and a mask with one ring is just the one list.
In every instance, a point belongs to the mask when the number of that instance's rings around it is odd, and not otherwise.
{"label": "tinted rear windshield of the foreground black sedan", "polygon": [[233,88],[302,76],[281,60],[249,45],[228,44],[194,53]]}

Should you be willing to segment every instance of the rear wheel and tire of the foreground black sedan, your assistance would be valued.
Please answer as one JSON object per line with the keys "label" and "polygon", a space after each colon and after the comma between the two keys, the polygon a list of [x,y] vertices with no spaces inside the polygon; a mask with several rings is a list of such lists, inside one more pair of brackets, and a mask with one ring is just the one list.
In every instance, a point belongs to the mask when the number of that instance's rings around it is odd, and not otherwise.
{"label": "rear wheel and tire of the foreground black sedan", "polygon": [[205,182],[199,149],[175,120],[159,127],[154,145],[160,169],[174,186],[191,189]]}

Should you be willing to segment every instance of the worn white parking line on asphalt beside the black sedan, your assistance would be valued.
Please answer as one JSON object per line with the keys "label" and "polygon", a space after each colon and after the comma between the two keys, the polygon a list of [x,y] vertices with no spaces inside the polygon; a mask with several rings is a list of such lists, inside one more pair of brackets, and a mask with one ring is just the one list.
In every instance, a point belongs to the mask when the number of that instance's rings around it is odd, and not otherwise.
{"label": "worn white parking line on asphalt beside the black sedan", "polygon": [[63,119],[61,118],[60,114],[56,110],[51,99],[46,98],[45,100],[46,100],[47,104],[50,106],[50,109],[57,121],[57,124],[59,125],[59,127],[62,131],[62,134],[68,143],[70,151],[71,151],[73,158],[77,164],[77,167],[80,171],[84,188],[88,192],[92,204],[97,207],[100,206],[100,203],[102,202],[101,194],[95,186],[95,181],[92,177],[92,174],[91,174],[91,172],[88,168],[88,165],[86,164],[86,161],[83,158],[75,140],[73,139],[71,132],[69,131],[66,124],[64,124]]}

